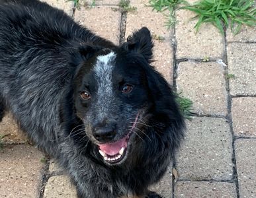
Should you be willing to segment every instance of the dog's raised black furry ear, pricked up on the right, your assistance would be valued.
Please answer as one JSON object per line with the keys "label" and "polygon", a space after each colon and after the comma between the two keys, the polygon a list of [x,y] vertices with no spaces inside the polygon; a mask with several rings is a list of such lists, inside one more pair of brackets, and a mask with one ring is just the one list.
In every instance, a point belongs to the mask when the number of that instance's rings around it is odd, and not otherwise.
{"label": "dog's raised black furry ear, pricked up on the right", "polygon": [[122,47],[127,51],[140,53],[145,57],[148,63],[151,62],[153,56],[153,42],[148,28],[143,27],[134,32],[132,36],[128,36],[127,42],[125,42]]}

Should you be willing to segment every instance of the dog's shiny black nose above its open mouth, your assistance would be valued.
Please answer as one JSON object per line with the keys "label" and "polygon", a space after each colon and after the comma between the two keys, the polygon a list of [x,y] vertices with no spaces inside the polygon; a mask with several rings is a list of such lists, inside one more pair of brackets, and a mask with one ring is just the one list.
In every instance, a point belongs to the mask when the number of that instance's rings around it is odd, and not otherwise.
{"label": "dog's shiny black nose above its open mouth", "polygon": [[97,126],[94,127],[93,136],[97,141],[102,143],[107,143],[108,141],[112,141],[116,136],[116,124],[108,124],[105,126]]}

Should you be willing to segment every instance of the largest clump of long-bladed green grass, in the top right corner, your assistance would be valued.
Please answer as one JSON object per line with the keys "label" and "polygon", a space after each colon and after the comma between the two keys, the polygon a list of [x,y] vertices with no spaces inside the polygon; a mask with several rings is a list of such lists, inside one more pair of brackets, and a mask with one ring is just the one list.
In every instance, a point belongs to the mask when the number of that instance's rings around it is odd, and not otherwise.
{"label": "largest clump of long-bladed green grass, in the top right corner", "polygon": [[[241,25],[256,25],[256,9],[253,8],[254,0],[201,0],[193,5],[182,7],[196,13],[198,22],[194,26],[198,32],[203,22],[210,22],[216,26],[222,34],[224,28],[231,27],[237,34]],[[235,28],[236,25],[236,28]]]}

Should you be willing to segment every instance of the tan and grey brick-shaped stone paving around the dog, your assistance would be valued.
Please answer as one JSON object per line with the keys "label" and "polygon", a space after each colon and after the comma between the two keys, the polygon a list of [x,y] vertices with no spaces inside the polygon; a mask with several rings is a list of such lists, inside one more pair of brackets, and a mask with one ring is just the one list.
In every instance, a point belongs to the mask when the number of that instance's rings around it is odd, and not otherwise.
{"label": "tan and grey brick-shaped stone paving around the dog", "polygon": [[[43,1],[115,44],[148,26],[155,38],[153,65],[194,102],[181,150],[151,189],[168,198],[256,197],[256,28],[222,36],[204,24],[195,34],[194,14],[182,10],[167,30],[165,16],[145,0],[130,1],[136,7],[130,12],[118,0],[80,0],[79,8],[66,0]],[[65,172],[29,144],[9,114],[0,135],[0,197],[75,197]]]}

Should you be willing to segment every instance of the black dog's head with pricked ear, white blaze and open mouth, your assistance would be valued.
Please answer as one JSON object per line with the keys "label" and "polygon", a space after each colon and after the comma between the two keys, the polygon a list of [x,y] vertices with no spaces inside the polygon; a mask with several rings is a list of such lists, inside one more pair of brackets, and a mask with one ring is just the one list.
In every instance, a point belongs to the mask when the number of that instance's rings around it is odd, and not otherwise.
{"label": "black dog's head with pricked ear, white blaze and open mouth", "polygon": [[87,49],[91,55],[77,69],[75,112],[106,164],[122,164],[136,139],[149,136],[149,121],[166,122],[176,108],[167,82],[149,65],[152,48],[142,28],[118,48]]}

